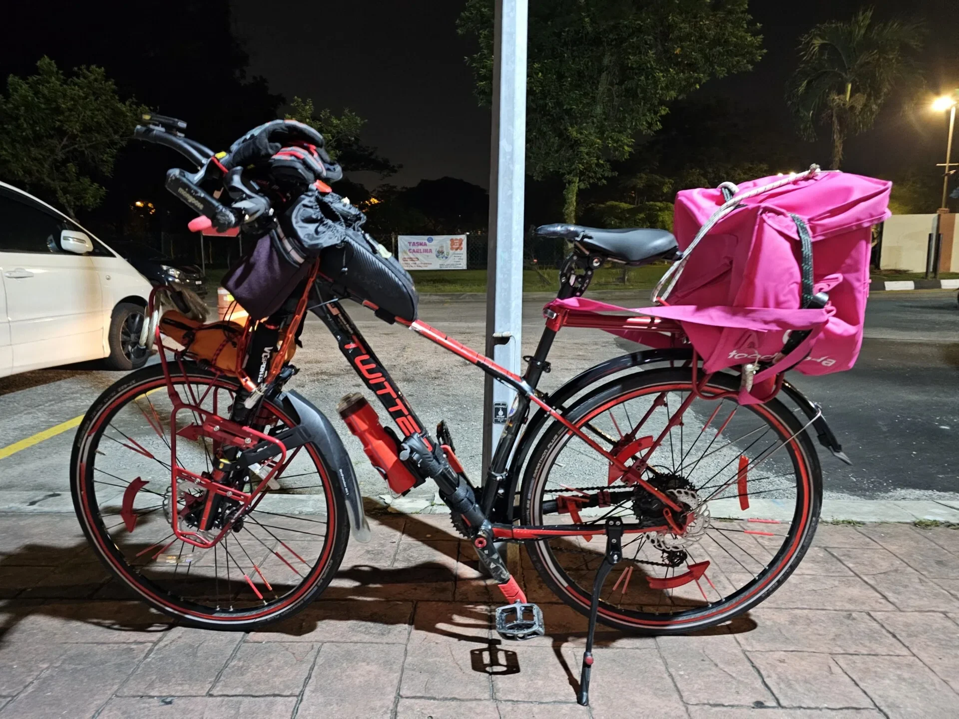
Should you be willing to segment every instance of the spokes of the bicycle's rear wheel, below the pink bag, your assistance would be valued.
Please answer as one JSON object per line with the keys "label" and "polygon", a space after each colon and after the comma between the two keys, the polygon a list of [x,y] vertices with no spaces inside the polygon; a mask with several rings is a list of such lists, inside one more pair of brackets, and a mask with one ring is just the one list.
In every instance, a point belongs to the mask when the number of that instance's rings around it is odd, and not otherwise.
{"label": "spokes of the bicycle's rear wheel, below the pink bag", "polygon": [[[759,587],[760,578],[778,566],[796,531],[790,522],[754,519],[745,511],[748,503],[744,503],[752,497],[775,498],[778,511],[788,510],[791,515],[799,499],[796,455],[791,448],[792,460],[784,459],[783,465],[774,463],[765,471],[751,473],[755,476],[748,477],[748,485],[744,472],[761,462],[774,461],[770,457],[791,441],[792,432],[784,433],[784,429],[778,429],[782,424],[767,420],[770,415],[764,406],[703,398],[692,391],[690,383],[664,387],[650,381],[645,388],[643,382],[640,378],[623,380],[624,386],[635,384],[640,388],[623,390],[619,400],[605,395],[596,400],[596,408],[587,401],[573,410],[570,419],[579,427],[592,425],[619,435],[620,447],[651,435],[651,447],[647,445],[621,461],[628,466],[643,458],[644,482],[685,506],[686,514],[681,516],[686,528],[681,526],[676,533],[652,531],[623,537],[623,561],[599,590],[604,611],[643,621],[644,617],[650,617],[650,621],[658,617],[657,626],[690,613],[729,611],[729,597]],[[656,411],[659,407],[663,411]],[[634,416],[641,418],[635,425],[631,421]],[[629,429],[621,426],[621,417],[626,417]],[[608,477],[619,477],[610,474],[608,461],[574,441],[575,435],[568,429],[557,427],[551,434],[549,429],[547,432],[540,454],[528,460],[536,469],[527,491],[539,498],[533,499],[534,503],[540,502],[535,505],[540,514],[533,513],[532,523],[596,525],[612,516],[621,516],[627,522],[664,521],[663,502],[642,485],[610,487]],[[621,494],[624,491],[625,496]],[[616,494],[604,496],[603,492]],[[579,506],[573,516],[566,505],[557,506],[560,497],[582,497],[583,504],[591,506]],[[609,505],[597,506],[597,497],[606,497]],[[543,514],[545,501],[550,502],[548,518]],[[596,570],[603,561],[604,545],[601,541],[588,542],[582,536],[550,538],[530,545],[530,551],[551,554],[550,561],[541,563],[541,571],[548,571],[555,586],[569,588],[566,591],[574,592],[576,601],[586,606]]]}

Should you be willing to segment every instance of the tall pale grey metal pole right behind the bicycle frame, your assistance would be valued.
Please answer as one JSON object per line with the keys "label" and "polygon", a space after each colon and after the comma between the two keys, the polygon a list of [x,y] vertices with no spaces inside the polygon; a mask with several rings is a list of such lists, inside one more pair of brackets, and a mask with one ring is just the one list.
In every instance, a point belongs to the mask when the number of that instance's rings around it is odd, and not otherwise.
{"label": "tall pale grey metal pole right behind the bicycle frame", "polygon": [[[486,356],[516,374],[522,373],[527,11],[527,0],[496,0],[486,262]],[[503,432],[513,396],[512,389],[486,377],[484,469]]]}

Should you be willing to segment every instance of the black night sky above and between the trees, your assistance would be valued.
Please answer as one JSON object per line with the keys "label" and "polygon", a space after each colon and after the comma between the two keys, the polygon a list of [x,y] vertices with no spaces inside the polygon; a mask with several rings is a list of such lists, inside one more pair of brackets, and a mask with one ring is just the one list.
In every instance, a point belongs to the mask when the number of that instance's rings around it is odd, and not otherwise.
{"label": "black night sky above and between the trees", "polygon": [[[475,48],[456,35],[456,17],[463,3],[192,0],[161,7],[129,0],[48,0],[9,4],[2,27],[15,32],[5,33],[0,43],[0,78],[34,72],[43,54],[66,70],[83,63],[102,64],[125,96],[182,117],[197,139],[218,149],[226,147],[245,128],[266,119],[264,107],[272,106],[269,100],[264,104],[263,88],[254,88],[247,96],[246,90],[230,82],[230,73],[243,63],[243,53],[231,46],[225,17],[229,7],[233,34],[242,39],[249,55],[247,78],[263,76],[269,92],[282,94],[288,101],[300,95],[312,98],[317,108],[339,113],[349,107],[358,112],[368,121],[363,142],[378,146],[390,160],[403,165],[386,181],[405,186],[449,175],[486,187],[490,118],[489,110],[476,103],[473,79],[463,61]],[[877,19],[905,13],[909,19],[925,20],[930,97],[959,85],[956,0],[876,0],[875,6]],[[795,67],[799,35],[817,22],[850,18],[860,3],[755,0],[750,7],[762,26],[766,56],[752,72],[707,82],[690,100],[730,97],[768,119],[768,127],[776,128],[785,149],[800,150],[784,154],[825,165],[830,160],[829,142],[810,146],[797,137],[784,103],[784,83]],[[218,96],[218,91],[223,94]],[[844,169],[897,176],[916,167],[935,174],[945,143],[945,114],[934,115],[924,105],[903,116],[898,104],[890,103],[877,128],[849,140]],[[116,183],[124,187],[131,178],[148,173],[159,183],[165,162],[169,158],[161,153],[131,145],[118,162]],[[351,178],[370,189],[382,181],[375,175]],[[555,196],[555,188],[550,194]]]}

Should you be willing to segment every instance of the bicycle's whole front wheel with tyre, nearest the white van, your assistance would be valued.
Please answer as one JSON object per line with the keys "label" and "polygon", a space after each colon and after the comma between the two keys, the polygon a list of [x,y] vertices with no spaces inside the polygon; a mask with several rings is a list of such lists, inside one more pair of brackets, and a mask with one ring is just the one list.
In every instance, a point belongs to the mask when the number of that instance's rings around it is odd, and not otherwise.
{"label": "bicycle's whole front wheel with tyre, nearest the white van", "polygon": [[[229,416],[238,384],[192,363],[172,364],[173,388],[201,411]],[[177,374],[178,373],[178,374]],[[70,460],[74,507],[84,534],[105,566],[157,610],[207,629],[252,631],[292,615],[333,578],[349,538],[349,522],[336,468],[312,444],[288,452],[269,490],[233,521],[236,502],[218,500],[209,520],[199,485],[179,482],[171,468],[209,475],[217,447],[190,437],[193,411],[175,413],[161,365],[145,367],[109,387],[77,431]],[[265,401],[255,425],[268,434],[292,428],[297,418]],[[185,429],[186,428],[186,429]],[[185,432],[185,433],[184,433]],[[175,447],[175,452],[171,447]],[[251,465],[233,486],[250,492],[269,464]],[[175,537],[173,522],[222,539],[199,548]],[[183,524],[180,524],[183,526]]]}

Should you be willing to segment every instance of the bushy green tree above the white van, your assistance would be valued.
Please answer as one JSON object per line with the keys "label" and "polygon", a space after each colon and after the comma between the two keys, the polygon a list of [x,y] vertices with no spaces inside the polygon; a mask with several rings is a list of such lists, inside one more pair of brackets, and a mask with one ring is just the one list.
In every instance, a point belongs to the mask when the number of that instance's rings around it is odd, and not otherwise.
{"label": "bushy green tree above the white van", "polygon": [[0,172],[75,217],[103,201],[105,188],[94,177],[112,174],[146,108],[121,100],[103,68],[81,67],[67,78],[41,58],[36,71],[11,75],[0,95]]}

